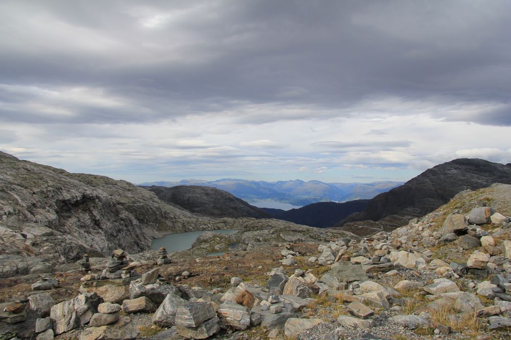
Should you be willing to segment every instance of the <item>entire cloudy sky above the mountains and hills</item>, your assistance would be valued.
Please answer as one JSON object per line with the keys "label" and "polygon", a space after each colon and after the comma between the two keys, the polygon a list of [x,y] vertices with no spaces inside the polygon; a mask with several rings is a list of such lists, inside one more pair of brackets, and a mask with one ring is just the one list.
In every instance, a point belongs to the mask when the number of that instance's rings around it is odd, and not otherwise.
{"label": "entire cloudy sky above the mountains and hills", "polygon": [[511,1],[0,2],[0,150],[132,182],[511,162]]}

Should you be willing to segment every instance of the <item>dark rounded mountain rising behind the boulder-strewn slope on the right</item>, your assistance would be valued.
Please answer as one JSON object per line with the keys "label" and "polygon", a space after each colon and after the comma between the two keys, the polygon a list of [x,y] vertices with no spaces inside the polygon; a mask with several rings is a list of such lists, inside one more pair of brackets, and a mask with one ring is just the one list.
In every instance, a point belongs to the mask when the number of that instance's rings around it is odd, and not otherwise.
{"label": "dark rounded mountain rising behind the boulder-strewn slope on the right", "polygon": [[357,221],[378,221],[386,230],[406,224],[445,204],[462,190],[485,188],[493,183],[511,184],[511,165],[480,159],[457,159],[437,165],[410,179],[404,185],[371,199],[361,213],[341,220],[335,227]]}

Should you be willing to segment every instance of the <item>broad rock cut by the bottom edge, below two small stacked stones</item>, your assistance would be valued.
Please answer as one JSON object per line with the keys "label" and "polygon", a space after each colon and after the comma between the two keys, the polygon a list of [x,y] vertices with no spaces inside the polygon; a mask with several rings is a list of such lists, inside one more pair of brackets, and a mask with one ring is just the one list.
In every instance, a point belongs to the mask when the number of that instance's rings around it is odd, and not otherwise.
{"label": "broad rock cut by the bottom edge, below two small stacked stones", "polygon": [[86,328],[80,333],[79,340],[134,340],[139,334],[135,323],[124,317],[111,325]]}

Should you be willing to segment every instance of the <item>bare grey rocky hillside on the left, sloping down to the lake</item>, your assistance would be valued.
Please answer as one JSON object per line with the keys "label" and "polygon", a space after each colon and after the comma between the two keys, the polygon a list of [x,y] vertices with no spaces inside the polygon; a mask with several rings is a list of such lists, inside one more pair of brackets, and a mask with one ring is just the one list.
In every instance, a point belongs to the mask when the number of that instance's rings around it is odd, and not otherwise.
{"label": "bare grey rocky hillside on the left, sloping down to the lake", "polygon": [[207,221],[122,180],[68,173],[0,154],[2,253],[72,259],[115,248],[138,252],[162,233]]}

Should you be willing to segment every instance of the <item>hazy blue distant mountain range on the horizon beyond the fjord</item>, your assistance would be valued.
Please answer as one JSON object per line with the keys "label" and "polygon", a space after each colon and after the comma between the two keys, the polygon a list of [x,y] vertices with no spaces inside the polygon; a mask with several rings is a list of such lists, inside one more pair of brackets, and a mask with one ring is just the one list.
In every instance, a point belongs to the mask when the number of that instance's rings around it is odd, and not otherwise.
{"label": "hazy blue distant mountain range on the horizon beyond the fjord", "polygon": [[139,186],[205,186],[227,191],[245,201],[272,200],[292,205],[307,205],[316,202],[346,202],[370,199],[376,195],[402,185],[403,182],[379,181],[372,183],[324,183],[319,180],[280,180],[276,182],[223,178],[213,181],[184,179],[178,182],[156,181]]}

